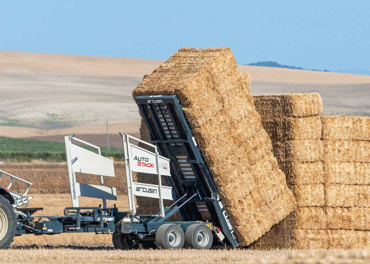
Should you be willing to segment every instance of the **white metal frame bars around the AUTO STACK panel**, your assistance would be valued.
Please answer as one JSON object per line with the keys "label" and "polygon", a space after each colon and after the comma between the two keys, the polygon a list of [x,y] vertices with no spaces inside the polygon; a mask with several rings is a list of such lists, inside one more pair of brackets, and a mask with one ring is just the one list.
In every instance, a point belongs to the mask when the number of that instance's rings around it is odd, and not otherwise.
{"label": "white metal frame bars around the AUTO STACK panel", "polygon": [[[157,216],[158,217],[164,217],[163,199],[171,199],[172,200],[172,187],[162,186],[162,179],[161,179],[161,171],[160,171],[159,161],[168,162],[168,172],[169,172],[169,159],[167,159],[163,156],[160,156],[159,153],[158,153],[158,150],[157,150],[157,146],[152,145],[151,143],[142,141],[141,139],[135,138],[134,136],[124,135],[121,132],[120,132],[120,135],[121,135],[122,140],[123,140],[124,152],[125,152],[124,155],[125,155],[125,166],[126,166],[127,195],[128,195],[128,204],[129,204],[130,211],[132,211],[134,214],[136,214],[135,195],[151,197],[151,198],[159,198],[160,215],[157,215]],[[133,139],[134,141],[137,141],[137,142],[140,142],[140,143],[143,143],[147,146],[152,147],[154,149],[154,152],[148,151],[146,149],[140,148],[139,146],[137,146],[133,143],[130,143],[130,139]],[[148,154],[155,155],[155,162],[156,162],[156,168],[157,168],[156,174],[158,176],[158,185],[143,184],[143,183],[133,181],[133,179],[132,179],[132,171],[133,171],[132,167],[133,166],[131,166],[133,164],[133,160],[132,160],[133,157],[132,157],[132,151],[131,151],[132,147],[134,147],[135,149],[139,149],[143,152],[147,152]],[[139,171],[139,170],[136,170],[136,171],[147,173],[145,171]],[[165,174],[165,175],[171,176],[169,173]],[[135,193],[135,190],[134,190],[135,186],[148,186],[148,187],[152,187],[152,188],[156,188],[156,189],[158,188],[158,197],[155,197],[155,195],[152,195],[152,194],[144,195],[144,194]],[[163,192],[166,192],[166,195],[164,195]],[[169,193],[171,195],[169,195]],[[171,196],[171,197],[169,197],[169,196]]]}

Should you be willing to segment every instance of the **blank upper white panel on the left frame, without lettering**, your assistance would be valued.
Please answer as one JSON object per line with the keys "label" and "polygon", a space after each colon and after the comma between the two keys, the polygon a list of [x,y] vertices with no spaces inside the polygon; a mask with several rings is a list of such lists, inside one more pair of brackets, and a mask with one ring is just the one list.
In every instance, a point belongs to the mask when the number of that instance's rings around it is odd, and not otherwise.
{"label": "blank upper white panel on the left frame, without lettering", "polygon": [[71,144],[71,159],[74,172],[114,177],[114,165],[111,159],[105,158],[80,146]]}

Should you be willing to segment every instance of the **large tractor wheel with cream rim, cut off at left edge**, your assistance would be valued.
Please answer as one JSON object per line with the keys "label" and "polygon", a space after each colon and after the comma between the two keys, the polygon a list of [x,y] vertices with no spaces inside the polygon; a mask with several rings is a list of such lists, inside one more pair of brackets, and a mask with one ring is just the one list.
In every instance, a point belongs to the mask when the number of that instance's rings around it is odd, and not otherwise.
{"label": "large tractor wheel with cream rim, cut off at left edge", "polygon": [[16,233],[16,213],[9,200],[0,195],[0,248],[8,248]]}

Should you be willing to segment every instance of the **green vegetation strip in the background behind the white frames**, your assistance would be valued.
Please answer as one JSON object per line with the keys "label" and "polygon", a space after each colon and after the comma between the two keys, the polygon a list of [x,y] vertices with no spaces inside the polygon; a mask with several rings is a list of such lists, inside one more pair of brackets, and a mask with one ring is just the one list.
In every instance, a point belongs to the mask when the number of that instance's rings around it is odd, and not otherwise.
{"label": "green vegetation strip in the background behind the white frames", "polygon": [[[77,142],[75,142],[77,143]],[[76,144],[97,153],[97,149],[84,144]],[[122,160],[123,149],[101,147],[101,155]],[[17,161],[30,161],[42,159],[45,161],[65,161],[64,142],[44,141],[28,138],[8,138],[0,136],[0,161],[2,159],[16,159]]]}

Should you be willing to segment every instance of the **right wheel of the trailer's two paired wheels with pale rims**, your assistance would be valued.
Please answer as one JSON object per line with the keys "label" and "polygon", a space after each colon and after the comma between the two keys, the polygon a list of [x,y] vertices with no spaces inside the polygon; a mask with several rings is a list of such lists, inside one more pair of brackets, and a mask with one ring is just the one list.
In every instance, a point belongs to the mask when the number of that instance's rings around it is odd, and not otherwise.
{"label": "right wheel of the trailer's two paired wheels with pale rims", "polygon": [[185,230],[185,243],[189,248],[210,249],[213,243],[212,231],[205,224],[192,224]]}

